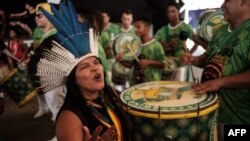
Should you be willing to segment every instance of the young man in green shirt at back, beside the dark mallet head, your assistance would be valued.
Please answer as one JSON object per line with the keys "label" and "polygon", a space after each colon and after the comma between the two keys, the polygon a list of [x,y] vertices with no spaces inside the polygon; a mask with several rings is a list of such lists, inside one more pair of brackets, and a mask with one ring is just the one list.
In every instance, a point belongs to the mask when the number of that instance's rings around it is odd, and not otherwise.
{"label": "young man in green shirt at back, beside the dark mallet head", "polygon": [[[193,39],[194,32],[190,25],[181,21],[177,3],[169,2],[167,4],[166,16],[169,24],[156,32],[155,39],[162,44],[166,55],[180,58],[184,51],[187,51],[187,48],[184,48],[186,39]],[[181,33],[184,33],[182,37]],[[197,47],[198,45],[194,44],[190,52],[193,53]],[[178,64],[180,65],[180,62]]]}

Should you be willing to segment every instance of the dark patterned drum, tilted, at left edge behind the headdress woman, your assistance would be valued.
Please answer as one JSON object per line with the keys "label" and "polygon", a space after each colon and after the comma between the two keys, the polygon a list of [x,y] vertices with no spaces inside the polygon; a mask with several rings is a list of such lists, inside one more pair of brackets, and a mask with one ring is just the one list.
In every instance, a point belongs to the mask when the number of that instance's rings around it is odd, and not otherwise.
{"label": "dark patterned drum, tilted, at left edge behind the headdress woman", "polygon": [[1,81],[0,86],[19,107],[24,106],[37,95],[27,73],[17,71],[17,69],[13,70],[5,81]]}

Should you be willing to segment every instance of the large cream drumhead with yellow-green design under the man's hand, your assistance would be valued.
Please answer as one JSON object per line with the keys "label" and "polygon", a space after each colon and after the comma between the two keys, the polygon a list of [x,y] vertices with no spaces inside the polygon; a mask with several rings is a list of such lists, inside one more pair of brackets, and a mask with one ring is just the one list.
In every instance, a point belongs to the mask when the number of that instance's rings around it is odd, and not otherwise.
{"label": "large cream drumhead with yellow-green design under the man's hand", "polygon": [[147,113],[188,113],[206,109],[217,103],[216,94],[198,94],[191,83],[152,81],[132,86],[120,95],[129,109]]}

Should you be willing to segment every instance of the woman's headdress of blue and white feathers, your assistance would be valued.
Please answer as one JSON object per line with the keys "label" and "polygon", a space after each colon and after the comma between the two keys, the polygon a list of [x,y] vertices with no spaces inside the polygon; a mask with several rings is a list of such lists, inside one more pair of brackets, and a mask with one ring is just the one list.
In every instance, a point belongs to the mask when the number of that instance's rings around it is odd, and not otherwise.
{"label": "woman's headdress of blue and white feathers", "polygon": [[80,23],[70,0],[61,2],[59,10],[51,5],[52,14],[40,9],[57,29],[56,41],[42,43],[28,64],[29,74],[43,93],[67,80],[73,68],[84,58],[98,57],[97,34],[87,23]]}

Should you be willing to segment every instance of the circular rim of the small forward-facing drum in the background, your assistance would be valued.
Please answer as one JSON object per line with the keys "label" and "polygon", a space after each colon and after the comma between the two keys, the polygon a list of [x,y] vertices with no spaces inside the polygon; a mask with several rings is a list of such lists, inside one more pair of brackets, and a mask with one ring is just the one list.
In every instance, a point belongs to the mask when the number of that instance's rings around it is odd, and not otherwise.
{"label": "circular rim of the small forward-facing drum in the background", "polygon": [[[138,47],[138,51],[135,52],[135,55],[138,56],[141,52],[141,41],[140,39],[133,33],[129,33],[129,32],[124,32],[124,33],[120,33],[117,35],[117,37],[114,39],[114,47],[113,47],[113,51],[114,51],[114,54],[117,54],[117,52],[119,52],[119,50],[117,49],[118,47],[118,42],[122,39],[122,37],[124,36],[132,36],[133,38],[135,38],[138,43],[139,43],[139,47]],[[122,56],[122,59],[125,60],[125,61],[131,61],[131,60],[134,60],[135,58],[132,56],[132,57],[124,57]]]}

